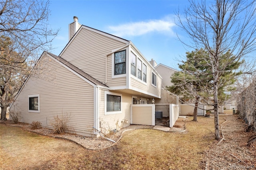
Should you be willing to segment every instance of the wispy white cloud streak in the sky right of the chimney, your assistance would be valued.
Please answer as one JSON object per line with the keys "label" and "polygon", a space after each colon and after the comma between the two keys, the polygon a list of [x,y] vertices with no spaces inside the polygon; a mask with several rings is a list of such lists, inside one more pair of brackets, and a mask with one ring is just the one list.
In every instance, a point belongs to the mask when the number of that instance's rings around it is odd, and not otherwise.
{"label": "wispy white cloud streak in the sky right of the chimney", "polygon": [[109,26],[108,32],[119,37],[124,36],[141,36],[151,32],[158,32],[160,34],[173,34],[172,27],[175,23],[166,17],[163,20],[148,20],[142,22],[132,22],[122,24],[119,26]]}

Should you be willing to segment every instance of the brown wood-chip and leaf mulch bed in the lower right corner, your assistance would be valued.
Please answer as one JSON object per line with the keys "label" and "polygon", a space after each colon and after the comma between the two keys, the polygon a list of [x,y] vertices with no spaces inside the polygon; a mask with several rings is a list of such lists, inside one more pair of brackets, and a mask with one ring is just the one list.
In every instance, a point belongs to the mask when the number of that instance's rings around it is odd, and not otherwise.
{"label": "brown wood-chip and leaf mulch bed in the lower right corner", "polygon": [[205,169],[256,169],[256,142],[247,146],[249,137],[255,133],[245,132],[246,125],[237,115],[227,115],[225,119],[221,125],[224,140],[216,141],[204,154]]}

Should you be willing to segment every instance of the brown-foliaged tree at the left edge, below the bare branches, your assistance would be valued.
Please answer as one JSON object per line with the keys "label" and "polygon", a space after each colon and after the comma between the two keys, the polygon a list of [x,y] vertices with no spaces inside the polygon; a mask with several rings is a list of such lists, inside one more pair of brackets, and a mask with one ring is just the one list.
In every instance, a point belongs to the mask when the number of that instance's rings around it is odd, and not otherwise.
{"label": "brown-foliaged tree at the left edge, below the bare branches", "polygon": [[13,51],[12,45],[10,38],[0,36],[0,120],[6,120],[6,110],[30,70],[24,56]]}

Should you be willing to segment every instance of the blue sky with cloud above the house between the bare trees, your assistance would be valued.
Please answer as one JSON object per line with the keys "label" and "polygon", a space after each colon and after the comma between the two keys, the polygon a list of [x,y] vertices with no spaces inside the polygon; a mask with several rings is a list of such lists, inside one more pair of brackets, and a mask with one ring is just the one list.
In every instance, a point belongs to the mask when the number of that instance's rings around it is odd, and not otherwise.
{"label": "blue sky with cloud above the house between the bare trees", "polygon": [[73,16],[82,25],[130,40],[150,61],[178,68],[186,48],[176,34],[175,11],[183,10],[187,0],[50,0],[49,24],[60,28],[52,53],[59,55],[68,43],[68,24]]}

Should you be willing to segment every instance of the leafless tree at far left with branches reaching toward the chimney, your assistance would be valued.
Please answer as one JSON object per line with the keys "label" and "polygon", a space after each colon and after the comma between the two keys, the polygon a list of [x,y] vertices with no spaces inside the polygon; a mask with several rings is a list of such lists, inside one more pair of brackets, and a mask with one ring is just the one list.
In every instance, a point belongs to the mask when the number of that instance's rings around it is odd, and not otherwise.
{"label": "leafless tree at far left with branches reaching toward the chimney", "polygon": [[[8,45],[0,49],[0,120],[6,120],[5,107],[13,99],[6,97],[13,97],[17,93],[24,81],[24,75],[30,73],[40,54],[52,49],[50,42],[58,30],[54,31],[48,25],[48,6],[49,1],[44,0],[0,1],[0,36],[8,39],[2,40],[2,44]],[[18,83],[18,80],[22,81]]]}

